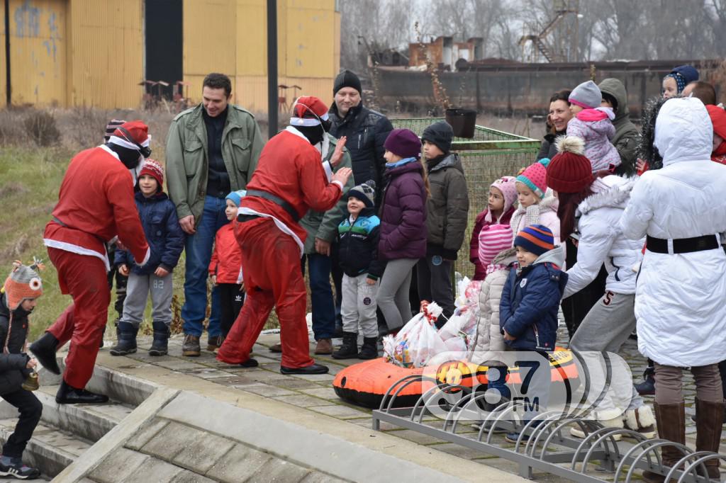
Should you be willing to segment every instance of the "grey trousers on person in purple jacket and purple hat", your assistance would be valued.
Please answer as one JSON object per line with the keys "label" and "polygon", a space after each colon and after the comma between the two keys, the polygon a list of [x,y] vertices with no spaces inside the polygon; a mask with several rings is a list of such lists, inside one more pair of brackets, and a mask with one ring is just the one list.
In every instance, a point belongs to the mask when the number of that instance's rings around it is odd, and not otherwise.
{"label": "grey trousers on person in purple jacket and purple hat", "polygon": [[411,320],[409,288],[411,271],[417,261],[417,258],[399,258],[386,263],[378,288],[378,307],[386,318],[388,329],[401,329],[404,323]]}

